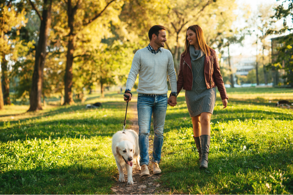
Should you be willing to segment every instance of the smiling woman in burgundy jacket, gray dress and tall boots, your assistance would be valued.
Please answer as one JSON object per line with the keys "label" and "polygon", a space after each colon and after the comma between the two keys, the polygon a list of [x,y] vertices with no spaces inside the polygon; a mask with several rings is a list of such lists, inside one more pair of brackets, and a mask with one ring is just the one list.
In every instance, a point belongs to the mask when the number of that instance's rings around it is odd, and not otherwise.
{"label": "smiling woman in burgundy jacket, gray dress and tall boots", "polygon": [[226,108],[229,98],[216,52],[207,46],[200,26],[190,26],[180,58],[177,94],[182,87],[185,89],[185,100],[193,124],[193,138],[202,169],[207,168],[208,164],[210,121],[216,101],[216,86]]}

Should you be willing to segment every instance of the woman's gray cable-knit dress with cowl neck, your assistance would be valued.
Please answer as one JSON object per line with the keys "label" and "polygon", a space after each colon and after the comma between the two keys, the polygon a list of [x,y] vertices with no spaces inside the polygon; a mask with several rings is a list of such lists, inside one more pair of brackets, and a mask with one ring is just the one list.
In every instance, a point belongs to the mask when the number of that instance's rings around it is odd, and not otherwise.
{"label": "woman's gray cable-knit dress with cowl neck", "polygon": [[205,84],[204,61],[205,53],[195,50],[190,45],[191,67],[193,73],[192,90],[185,90],[185,100],[190,117],[202,112],[213,114],[216,101],[216,88],[208,89]]}

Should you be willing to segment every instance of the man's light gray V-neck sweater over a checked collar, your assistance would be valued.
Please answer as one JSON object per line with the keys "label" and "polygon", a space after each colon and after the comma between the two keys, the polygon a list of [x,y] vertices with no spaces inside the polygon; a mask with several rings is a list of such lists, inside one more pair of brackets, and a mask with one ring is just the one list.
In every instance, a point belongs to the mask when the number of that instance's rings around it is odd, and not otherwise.
{"label": "man's light gray V-neck sweater over a checked collar", "polygon": [[151,53],[146,47],[134,54],[126,89],[132,89],[138,77],[137,93],[166,94],[168,93],[167,72],[171,91],[177,92],[176,73],[173,57],[169,50],[162,48],[162,52]]}

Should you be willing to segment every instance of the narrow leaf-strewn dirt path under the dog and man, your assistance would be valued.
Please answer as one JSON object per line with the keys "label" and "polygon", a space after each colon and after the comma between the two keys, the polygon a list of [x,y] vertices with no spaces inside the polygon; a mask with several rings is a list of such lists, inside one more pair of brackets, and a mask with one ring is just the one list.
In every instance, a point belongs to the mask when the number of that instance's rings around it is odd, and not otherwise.
{"label": "narrow leaf-strewn dirt path under the dog and man", "polygon": [[[130,121],[126,121],[126,128],[139,131],[138,118],[137,118],[137,99],[133,98],[133,101],[129,103],[127,115],[130,116]],[[132,124],[131,124],[132,123]],[[127,125],[129,124],[129,125]],[[153,151],[154,137],[149,137],[149,165],[151,165],[151,154]],[[140,177],[140,171],[136,169],[136,163],[133,162],[132,178],[134,184],[127,184],[127,171],[124,171],[125,182],[119,182],[119,174],[115,175],[117,183],[111,187],[113,194],[158,194],[162,191],[170,192],[170,189],[160,187],[161,184],[156,180],[160,178],[161,174],[154,175],[149,166],[150,175],[147,177]]]}

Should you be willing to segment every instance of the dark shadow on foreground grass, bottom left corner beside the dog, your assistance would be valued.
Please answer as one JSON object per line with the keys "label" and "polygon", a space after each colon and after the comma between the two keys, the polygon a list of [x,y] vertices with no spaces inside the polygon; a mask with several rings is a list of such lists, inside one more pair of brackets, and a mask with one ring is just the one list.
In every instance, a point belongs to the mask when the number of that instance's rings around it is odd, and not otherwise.
{"label": "dark shadow on foreground grass, bottom left corner beside the dog", "polygon": [[92,163],[13,170],[0,175],[0,194],[111,194],[116,169]]}

